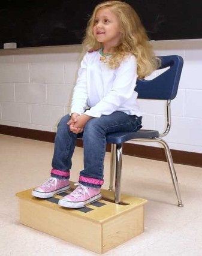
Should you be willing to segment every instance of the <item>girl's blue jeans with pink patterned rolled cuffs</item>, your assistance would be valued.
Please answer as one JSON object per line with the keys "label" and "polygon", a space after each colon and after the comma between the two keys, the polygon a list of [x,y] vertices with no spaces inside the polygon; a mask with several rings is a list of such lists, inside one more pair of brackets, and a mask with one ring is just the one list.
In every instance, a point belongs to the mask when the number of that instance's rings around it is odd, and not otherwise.
{"label": "girl's blue jeans with pink patterned rolled cuffs", "polygon": [[[62,172],[69,172],[77,137],[83,136],[84,170],[80,171],[79,182],[86,186],[100,188],[103,183],[106,134],[117,131],[137,131],[141,128],[141,117],[114,112],[111,115],[92,118],[86,123],[81,134],[70,131],[67,125],[69,120],[70,115],[66,115],[58,124],[52,167]],[[62,178],[53,173],[52,176]]]}

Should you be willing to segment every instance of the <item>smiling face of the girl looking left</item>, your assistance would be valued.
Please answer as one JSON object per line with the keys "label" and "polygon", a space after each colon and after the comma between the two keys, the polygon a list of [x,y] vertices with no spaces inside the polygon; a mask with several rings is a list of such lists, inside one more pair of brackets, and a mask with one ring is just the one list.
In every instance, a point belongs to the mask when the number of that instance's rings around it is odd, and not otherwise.
{"label": "smiling face of the girl looking left", "polygon": [[109,8],[97,11],[94,20],[94,37],[102,43],[104,50],[117,46],[120,41],[119,20]]}

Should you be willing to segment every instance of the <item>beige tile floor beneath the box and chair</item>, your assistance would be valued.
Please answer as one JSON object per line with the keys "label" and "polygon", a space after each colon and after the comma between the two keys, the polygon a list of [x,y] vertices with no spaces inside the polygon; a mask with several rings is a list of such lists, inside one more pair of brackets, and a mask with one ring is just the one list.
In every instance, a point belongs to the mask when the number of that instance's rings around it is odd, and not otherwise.
{"label": "beige tile floor beneath the box and chair", "polygon": [[[83,166],[82,149],[74,153],[71,180]],[[92,256],[94,252],[19,223],[16,192],[40,185],[49,177],[53,143],[0,134],[0,255]],[[105,157],[108,185],[110,155]],[[111,249],[106,256],[202,255],[202,168],[176,164],[185,207],[177,200],[165,162],[123,156],[122,192],[146,198],[143,234]]]}

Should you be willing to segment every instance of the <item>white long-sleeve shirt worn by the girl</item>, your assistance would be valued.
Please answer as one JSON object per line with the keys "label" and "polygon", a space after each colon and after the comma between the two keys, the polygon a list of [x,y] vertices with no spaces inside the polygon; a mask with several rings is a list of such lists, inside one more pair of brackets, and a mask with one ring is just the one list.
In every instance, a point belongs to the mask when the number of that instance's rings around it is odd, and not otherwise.
{"label": "white long-sleeve shirt worn by the girl", "polygon": [[[99,51],[84,56],[74,87],[71,113],[100,118],[115,111],[141,116],[134,91],[137,80],[137,61],[126,56],[119,68],[111,69],[100,61]],[[108,57],[107,57],[108,58]]]}

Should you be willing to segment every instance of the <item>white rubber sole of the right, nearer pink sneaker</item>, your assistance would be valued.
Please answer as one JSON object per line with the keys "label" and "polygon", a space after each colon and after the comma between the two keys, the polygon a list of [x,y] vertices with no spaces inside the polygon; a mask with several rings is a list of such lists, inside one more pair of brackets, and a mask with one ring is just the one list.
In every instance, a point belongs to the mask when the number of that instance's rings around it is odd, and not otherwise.
{"label": "white rubber sole of the right, nearer pink sneaker", "polygon": [[89,198],[86,201],[80,201],[80,202],[71,202],[71,201],[66,201],[64,199],[60,199],[58,201],[59,206],[62,207],[67,207],[67,208],[82,208],[87,206],[88,204],[94,203],[95,201],[100,200],[102,197],[101,193],[94,195],[94,197]]}

